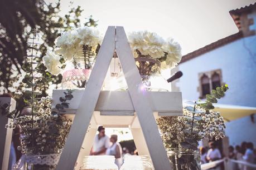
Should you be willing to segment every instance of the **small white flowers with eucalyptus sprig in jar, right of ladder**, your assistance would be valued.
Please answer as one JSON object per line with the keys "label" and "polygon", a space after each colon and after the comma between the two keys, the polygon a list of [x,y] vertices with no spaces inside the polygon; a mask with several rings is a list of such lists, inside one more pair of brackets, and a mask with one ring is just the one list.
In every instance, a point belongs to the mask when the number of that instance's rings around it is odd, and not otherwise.
{"label": "small white flowers with eucalyptus sprig in jar, right of ladder", "polygon": [[206,95],[205,102],[193,102],[194,106],[185,107],[183,116],[157,119],[163,143],[167,150],[171,150],[168,156],[173,169],[200,169],[198,142],[224,137],[224,119],[211,109],[214,109],[212,103],[217,103],[216,98],[223,97],[227,89],[228,85],[225,85],[212,90]]}

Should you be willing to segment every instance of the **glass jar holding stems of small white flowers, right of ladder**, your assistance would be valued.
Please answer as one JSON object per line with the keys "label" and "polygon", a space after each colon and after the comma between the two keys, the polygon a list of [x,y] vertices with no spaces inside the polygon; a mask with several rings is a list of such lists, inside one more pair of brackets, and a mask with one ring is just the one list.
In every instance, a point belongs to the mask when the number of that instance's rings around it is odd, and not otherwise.
{"label": "glass jar holding stems of small white flowers, right of ladder", "polygon": [[200,170],[200,153],[191,149],[166,149],[172,169]]}

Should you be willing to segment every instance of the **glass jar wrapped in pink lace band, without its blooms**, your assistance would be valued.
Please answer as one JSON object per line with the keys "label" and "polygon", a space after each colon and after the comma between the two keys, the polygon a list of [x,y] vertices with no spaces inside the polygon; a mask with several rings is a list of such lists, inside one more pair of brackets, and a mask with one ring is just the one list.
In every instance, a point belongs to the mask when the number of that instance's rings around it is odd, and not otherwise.
{"label": "glass jar wrapped in pink lace band, without its blooms", "polygon": [[66,64],[62,77],[62,89],[85,88],[95,58],[96,53],[91,51],[81,51],[74,54],[71,61]]}

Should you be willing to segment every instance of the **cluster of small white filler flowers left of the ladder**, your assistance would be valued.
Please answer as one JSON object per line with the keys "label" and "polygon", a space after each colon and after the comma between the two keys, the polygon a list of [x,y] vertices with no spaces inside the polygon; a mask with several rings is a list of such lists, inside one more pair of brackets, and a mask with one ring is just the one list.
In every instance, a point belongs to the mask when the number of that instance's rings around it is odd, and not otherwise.
{"label": "cluster of small white filler flowers left of the ladder", "polygon": [[58,153],[64,147],[72,123],[61,114],[52,114],[51,102],[49,96],[42,97],[33,107],[34,116],[32,110],[27,109],[26,115],[6,125],[6,128],[21,129],[21,146],[18,149],[23,154]]}

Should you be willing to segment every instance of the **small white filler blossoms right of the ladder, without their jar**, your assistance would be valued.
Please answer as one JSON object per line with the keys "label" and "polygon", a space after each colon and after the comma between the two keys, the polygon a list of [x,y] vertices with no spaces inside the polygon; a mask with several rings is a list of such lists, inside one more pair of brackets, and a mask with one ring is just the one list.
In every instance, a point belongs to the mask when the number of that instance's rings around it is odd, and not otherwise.
{"label": "small white filler blossoms right of the ladder, without their jar", "polygon": [[206,111],[200,107],[196,110],[193,128],[193,113],[187,108],[183,109],[183,116],[157,119],[166,148],[189,146],[187,143],[191,143],[190,149],[196,150],[197,142],[202,139],[209,141],[224,137],[225,124],[219,112],[210,111],[210,114],[205,114]]}

